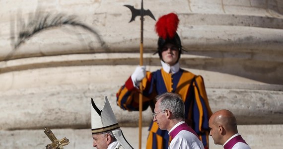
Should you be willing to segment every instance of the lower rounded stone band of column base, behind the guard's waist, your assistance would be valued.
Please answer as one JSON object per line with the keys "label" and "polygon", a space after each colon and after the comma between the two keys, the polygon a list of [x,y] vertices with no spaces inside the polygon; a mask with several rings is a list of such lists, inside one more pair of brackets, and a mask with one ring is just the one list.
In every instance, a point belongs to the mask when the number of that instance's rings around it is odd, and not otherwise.
{"label": "lower rounded stone band of column base, behind the guard's waist", "polygon": [[[84,84],[52,86],[1,92],[1,130],[90,127],[90,98],[103,105],[108,96],[116,118],[123,127],[137,127],[139,112],[128,112],[116,105],[118,86]],[[283,92],[253,89],[207,88],[212,112],[231,110],[238,124],[283,124]],[[268,100],[272,99],[272,100]],[[125,117],[127,115],[127,117]],[[143,111],[144,126],[152,121],[151,110]]]}

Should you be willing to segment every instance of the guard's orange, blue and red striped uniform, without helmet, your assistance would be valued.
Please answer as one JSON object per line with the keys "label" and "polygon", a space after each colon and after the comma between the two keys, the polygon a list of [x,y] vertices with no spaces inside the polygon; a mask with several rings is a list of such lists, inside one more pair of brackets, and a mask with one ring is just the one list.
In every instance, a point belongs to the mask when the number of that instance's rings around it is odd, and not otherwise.
{"label": "guard's orange, blue and red striped uniform, without helmet", "polygon": [[[168,74],[163,69],[146,72],[142,80],[142,110],[151,107],[154,111],[155,97],[164,92],[178,93],[185,103],[185,119],[196,131],[206,149],[209,147],[208,121],[212,115],[205,84],[201,75],[195,75],[183,69]],[[117,104],[124,110],[139,110],[139,89],[133,85],[131,77],[117,92]],[[168,131],[160,130],[155,122],[149,126],[146,149],[168,149],[171,138]]]}

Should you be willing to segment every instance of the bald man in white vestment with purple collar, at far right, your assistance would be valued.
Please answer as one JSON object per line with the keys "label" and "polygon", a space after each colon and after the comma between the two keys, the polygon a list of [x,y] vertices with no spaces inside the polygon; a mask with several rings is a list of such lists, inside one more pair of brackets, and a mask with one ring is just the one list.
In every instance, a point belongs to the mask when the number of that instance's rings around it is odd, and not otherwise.
{"label": "bald man in white vestment with purple collar, at far right", "polygon": [[229,110],[212,114],[209,127],[215,145],[222,145],[224,149],[251,149],[238,134],[236,118]]}

